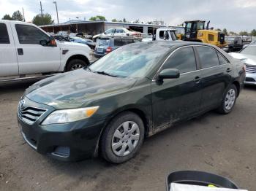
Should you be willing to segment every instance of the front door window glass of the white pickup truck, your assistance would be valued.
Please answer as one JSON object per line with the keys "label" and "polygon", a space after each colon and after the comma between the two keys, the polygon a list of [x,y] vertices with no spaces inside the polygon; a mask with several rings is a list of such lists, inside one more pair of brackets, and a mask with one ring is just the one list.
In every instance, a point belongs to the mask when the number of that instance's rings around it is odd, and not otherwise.
{"label": "front door window glass of the white pickup truck", "polygon": [[20,44],[40,44],[41,40],[50,41],[48,35],[34,26],[15,25]]}

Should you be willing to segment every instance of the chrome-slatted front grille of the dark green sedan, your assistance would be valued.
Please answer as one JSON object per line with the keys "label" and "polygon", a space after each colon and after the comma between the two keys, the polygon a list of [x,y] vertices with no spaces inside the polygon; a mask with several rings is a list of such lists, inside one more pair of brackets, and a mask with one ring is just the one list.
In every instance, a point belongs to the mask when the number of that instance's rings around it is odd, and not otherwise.
{"label": "chrome-slatted front grille of the dark green sedan", "polygon": [[38,120],[44,112],[46,112],[46,109],[40,109],[33,106],[26,106],[24,108],[20,106],[18,107],[18,117],[29,125]]}

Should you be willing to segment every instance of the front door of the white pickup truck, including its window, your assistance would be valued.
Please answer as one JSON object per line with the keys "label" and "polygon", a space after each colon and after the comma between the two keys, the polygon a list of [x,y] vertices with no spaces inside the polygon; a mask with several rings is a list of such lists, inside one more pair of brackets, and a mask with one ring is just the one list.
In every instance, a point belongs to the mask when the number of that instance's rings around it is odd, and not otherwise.
{"label": "front door of the white pickup truck, including its window", "polygon": [[50,42],[50,37],[30,25],[12,25],[16,51],[18,52],[19,74],[37,74],[58,71],[60,47],[42,46],[41,40]]}

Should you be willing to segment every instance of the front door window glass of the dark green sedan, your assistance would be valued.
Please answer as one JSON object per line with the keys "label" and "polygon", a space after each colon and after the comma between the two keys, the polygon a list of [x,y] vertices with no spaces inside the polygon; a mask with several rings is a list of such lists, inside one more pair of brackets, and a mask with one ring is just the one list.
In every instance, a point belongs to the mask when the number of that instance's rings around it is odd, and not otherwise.
{"label": "front door window glass of the dark green sedan", "polygon": [[178,69],[180,73],[197,69],[195,53],[192,47],[183,47],[168,58],[162,69]]}

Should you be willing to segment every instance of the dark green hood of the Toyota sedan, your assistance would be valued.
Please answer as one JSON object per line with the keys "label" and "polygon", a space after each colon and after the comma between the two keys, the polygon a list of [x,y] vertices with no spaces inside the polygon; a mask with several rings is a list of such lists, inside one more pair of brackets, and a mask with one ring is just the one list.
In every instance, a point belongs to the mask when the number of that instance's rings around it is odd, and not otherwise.
{"label": "dark green hood of the Toyota sedan", "polygon": [[26,97],[56,109],[84,106],[89,101],[121,93],[134,85],[136,79],[109,77],[78,69],[42,79],[26,90]]}

